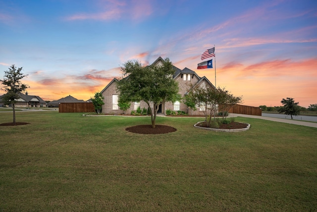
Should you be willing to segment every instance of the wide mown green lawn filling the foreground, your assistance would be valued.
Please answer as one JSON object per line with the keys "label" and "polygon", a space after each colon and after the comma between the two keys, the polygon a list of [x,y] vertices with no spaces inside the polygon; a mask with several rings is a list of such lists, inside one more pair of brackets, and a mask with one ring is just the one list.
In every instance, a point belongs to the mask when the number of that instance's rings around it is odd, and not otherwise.
{"label": "wide mown green lawn filling the foreground", "polygon": [[[260,119],[240,133],[158,117],[20,112],[0,127],[0,211],[316,211],[317,129]],[[12,122],[1,113],[0,123]]]}

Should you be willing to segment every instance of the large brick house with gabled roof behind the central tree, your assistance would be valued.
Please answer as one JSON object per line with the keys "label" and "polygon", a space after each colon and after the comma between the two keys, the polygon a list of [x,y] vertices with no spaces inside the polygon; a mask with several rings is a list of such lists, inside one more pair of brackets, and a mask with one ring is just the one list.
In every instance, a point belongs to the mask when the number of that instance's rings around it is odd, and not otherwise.
{"label": "large brick house with gabled roof behind the central tree", "polygon": [[[159,65],[163,61],[161,57],[159,57],[152,65]],[[183,70],[178,69],[173,66],[175,73],[173,74],[173,79],[178,82],[179,86],[179,94],[183,97],[188,91],[196,86],[202,87],[213,87],[213,84],[205,77],[200,77],[197,75],[195,71],[192,71],[188,68]],[[109,84],[101,91],[102,95],[105,97],[103,105],[103,113],[106,114],[121,114],[122,110],[118,107],[118,91],[116,90],[116,82],[118,79],[113,78]],[[127,110],[127,114],[131,113],[132,110],[137,110],[137,108],[148,108],[147,103],[141,102],[132,102],[131,107]],[[197,110],[194,111],[190,109],[187,105],[185,105],[182,101],[176,102],[163,102],[159,105],[159,114],[165,114],[166,110],[172,111],[185,111],[188,114],[193,115],[204,115],[201,108],[197,107]]]}

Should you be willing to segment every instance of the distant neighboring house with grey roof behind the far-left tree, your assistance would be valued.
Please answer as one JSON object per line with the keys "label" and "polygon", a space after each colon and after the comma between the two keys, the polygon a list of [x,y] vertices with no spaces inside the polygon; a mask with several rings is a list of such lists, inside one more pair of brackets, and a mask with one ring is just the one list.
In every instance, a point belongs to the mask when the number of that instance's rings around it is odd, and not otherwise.
{"label": "distant neighboring house with grey roof behind the far-left tree", "polygon": [[[0,105],[3,107],[2,96],[0,96]],[[20,98],[15,103],[15,107],[46,107],[46,102],[39,96],[28,95],[27,92],[25,94],[20,93],[19,96]],[[11,107],[11,105],[8,106]]]}

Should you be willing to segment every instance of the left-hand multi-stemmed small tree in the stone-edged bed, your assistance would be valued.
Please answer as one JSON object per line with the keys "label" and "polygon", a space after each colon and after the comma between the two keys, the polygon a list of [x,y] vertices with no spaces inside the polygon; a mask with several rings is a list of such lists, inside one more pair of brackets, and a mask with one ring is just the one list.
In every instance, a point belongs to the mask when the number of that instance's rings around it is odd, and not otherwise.
{"label": "left-hand multi-stemmed small tree in the stone-edged bed", "polygon": [[188,102],[199,105],[205,115],[207,126],[210,126],[211,115],[215,113],[215,106],[217,103],[219,92],[213,88],[206,86],[195,87],[188,94]]}

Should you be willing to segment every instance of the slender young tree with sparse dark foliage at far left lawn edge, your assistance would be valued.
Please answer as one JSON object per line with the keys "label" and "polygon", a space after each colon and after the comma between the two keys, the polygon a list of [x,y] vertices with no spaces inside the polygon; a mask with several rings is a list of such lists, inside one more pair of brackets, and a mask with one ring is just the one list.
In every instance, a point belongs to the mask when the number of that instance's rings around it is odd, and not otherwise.
{"label": "slender young tree with sparse dark foliage at far left lawn edge", "polygon": [[4,77],[0,81],[4,85],[2,90],[6,93],[3,95],[2,100],[4,104],[12,104],[13,109],[13,124],[15,125],[15,103],[20,98],[19,94],[25,91],[29,86],[23,84],[21,79],[28,74],[22,73],[22,67],[16,68],[14,65],[10,66],[9,71],[4,71]]}

